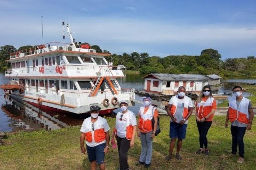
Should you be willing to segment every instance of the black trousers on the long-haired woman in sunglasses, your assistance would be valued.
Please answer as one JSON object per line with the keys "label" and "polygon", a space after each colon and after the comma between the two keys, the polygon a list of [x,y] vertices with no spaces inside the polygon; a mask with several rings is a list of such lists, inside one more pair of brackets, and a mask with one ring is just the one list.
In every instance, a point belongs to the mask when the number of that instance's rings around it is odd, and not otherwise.
{"label": "black trousers on the long-haired woman in sunglasses", "polygon": [[204,145],[204,148],[208,149],[207,133],[211,125],[212,121],[197,122],[200,148],[203,148]]}

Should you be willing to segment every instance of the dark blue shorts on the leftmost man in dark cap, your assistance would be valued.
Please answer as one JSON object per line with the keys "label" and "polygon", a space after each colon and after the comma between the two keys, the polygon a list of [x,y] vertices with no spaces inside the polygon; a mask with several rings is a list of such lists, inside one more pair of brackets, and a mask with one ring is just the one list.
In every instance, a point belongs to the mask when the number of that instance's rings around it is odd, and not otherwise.
{"label": "dark blue shorts on the leftmost man in dark cap", "polygon": [[106,143],[94,147],[86,145],[87,155],[90,162],[96,161],[99,165],[104,163],[104,148]]}

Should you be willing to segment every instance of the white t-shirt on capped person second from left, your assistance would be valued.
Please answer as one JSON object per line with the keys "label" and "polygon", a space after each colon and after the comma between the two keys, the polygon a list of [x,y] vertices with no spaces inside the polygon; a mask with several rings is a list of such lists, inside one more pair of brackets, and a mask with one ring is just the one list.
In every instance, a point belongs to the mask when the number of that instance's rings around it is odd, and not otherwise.
{"label": "white t-shirt on capped person second from left", "polygon": [[130,119],[132,126],[137,125],[136,117],[132,111],[128,110],[126,113],[124,113],[122,120],[120,120],[122,114],[123,114],[122,111],[119,111],[117,113],[117,120],[116,120],[117,136],[119,138],[126,137],[127,121],[129,121],[128,119]]}

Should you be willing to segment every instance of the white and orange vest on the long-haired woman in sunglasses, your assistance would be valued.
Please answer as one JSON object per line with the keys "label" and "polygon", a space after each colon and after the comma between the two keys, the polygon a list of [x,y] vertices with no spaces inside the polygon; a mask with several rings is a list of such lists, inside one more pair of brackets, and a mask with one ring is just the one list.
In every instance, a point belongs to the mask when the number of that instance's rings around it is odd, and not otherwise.
{"label": "white and orange vest on the long-haired woman in sunglasses", "polygon": [[[212,107],[213,101],[214,101],[214,98],[209,96],[206,101],[202,100],[200,103],[197,103],[197,107],[199,108],[197,111],[199,119],[203,119],[212,111],[211,107]],[[213,119],[213,116],[214,115],[209,117],[207,120],[211,121]]]}

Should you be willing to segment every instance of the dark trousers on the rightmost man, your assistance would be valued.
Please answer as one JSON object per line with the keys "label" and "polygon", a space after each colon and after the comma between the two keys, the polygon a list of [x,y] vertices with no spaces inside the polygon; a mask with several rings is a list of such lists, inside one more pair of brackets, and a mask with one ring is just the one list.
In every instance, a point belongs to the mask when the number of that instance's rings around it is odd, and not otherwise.
{"label": "dark trousers on the rightmost man", "polygon": [[237,153],[237,145],[239,146],[239,156],[244,158],[245,154],[245,144],[244,144],[244,136],[246,127],[230,127],[232,134],[232,154]]}

